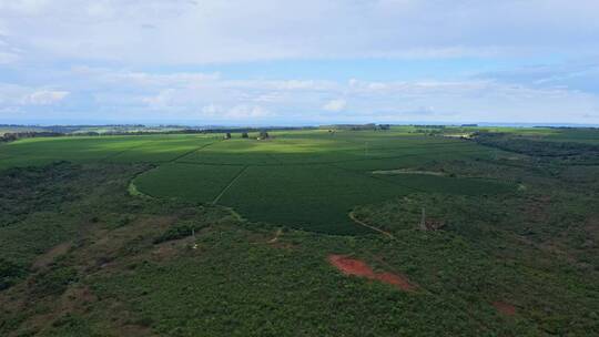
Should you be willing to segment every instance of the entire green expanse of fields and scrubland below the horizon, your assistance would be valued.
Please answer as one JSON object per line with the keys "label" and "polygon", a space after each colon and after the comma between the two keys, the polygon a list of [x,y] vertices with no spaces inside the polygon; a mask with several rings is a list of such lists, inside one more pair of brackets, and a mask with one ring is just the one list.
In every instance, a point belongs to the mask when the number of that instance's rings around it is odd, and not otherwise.
{"label": "entire green expanse of fields and scrubland below the horizon", "polygon": [[476,131],[0,144],[0,335],[598,335],[596,131]]}

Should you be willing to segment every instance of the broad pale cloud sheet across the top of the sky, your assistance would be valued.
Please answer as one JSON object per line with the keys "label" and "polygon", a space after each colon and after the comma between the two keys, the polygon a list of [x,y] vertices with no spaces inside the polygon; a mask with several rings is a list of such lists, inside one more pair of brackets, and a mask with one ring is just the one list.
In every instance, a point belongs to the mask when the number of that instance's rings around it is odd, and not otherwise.
{"label": "broad pale cloud sheet across the top of the sky", "polygon": [[597,53],[596,12],[561,0],[0,1],[35,58],[129,64]]}

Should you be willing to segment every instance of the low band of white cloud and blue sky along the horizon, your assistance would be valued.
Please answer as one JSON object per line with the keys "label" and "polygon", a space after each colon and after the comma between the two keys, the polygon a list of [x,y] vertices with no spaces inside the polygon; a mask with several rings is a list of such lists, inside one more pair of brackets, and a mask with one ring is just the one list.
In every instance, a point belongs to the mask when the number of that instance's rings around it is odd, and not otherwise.
{"label": "low band of white cloud and blue sky along the horizon", "polygon": [[[599,96],[493,79],[412,81],[232,80],[205,73],[153,74],[81,68],[57,88],[0,85],[0,108],[23,110],[71,95],[61,114],[82,110],[119,121],[593,122]],[[71,84],[69,84],[71,83]],[[48,88],[48,86],[47,86]],[[85,93],[93,93],[91,98]],[[352,109],[348,110],[351,102]],[[83,106],[83,108],[81,108]],[[29,111],[29,110],[28,110]],[[89,116],[84,114],[81,118]],[[596,121],[599,123],[599,120]]]}

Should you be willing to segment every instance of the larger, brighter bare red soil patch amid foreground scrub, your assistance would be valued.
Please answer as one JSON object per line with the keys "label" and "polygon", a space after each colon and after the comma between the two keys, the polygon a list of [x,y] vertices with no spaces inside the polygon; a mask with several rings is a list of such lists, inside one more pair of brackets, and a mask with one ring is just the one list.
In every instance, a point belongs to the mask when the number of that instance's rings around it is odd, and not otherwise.
{"label": "larger, brighter bare red soil patch amid foreground scrub", "polygon": [[382,283],[393,285],[402,290],[412,292],[416,287],[410,284],[405,276],[393,273],[375,273],[365,262],[348,258],[343,255],[329,255],[328,262],[345,275],[353,275],[375,279]]}

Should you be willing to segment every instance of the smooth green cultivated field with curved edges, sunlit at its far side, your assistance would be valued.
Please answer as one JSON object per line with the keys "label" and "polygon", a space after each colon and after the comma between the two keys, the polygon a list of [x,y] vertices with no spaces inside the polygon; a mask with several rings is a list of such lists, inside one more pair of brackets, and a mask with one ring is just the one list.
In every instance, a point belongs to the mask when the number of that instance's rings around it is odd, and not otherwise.
{"label": "smooth green cultivated field with curved edges, sunlit at its far side", "polygon": [[254,222],[329,234],[369,231],[348,213],[410,193],[515,191],[512,185],[475,177],[373,174],[498,153],[466,140],[407,131],[281,131],[262,141],[254,134],[233,134],[231,140],[219,134],[29,139],[0,147],[0,168],[53,161],[152,163],[154,168],[133,182],[142,193],[216,203]]}

